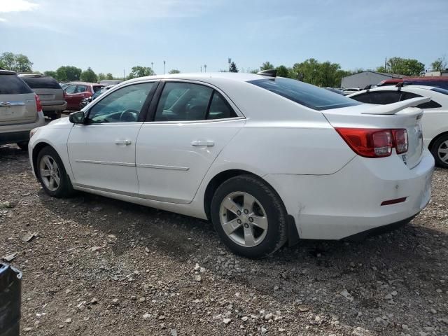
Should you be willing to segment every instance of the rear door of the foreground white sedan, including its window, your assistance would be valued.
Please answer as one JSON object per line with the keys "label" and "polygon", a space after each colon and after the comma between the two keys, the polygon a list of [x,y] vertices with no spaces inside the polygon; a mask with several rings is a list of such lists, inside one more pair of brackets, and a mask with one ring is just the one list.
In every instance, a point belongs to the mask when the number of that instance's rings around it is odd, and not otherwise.
{"label": "rear door of the foreground white sedan, including its window", "polygon": [[165,83],[154,117],[142,125],[137,139],[140,197],[191,202],[211,164],[244,123],[214,88]]}

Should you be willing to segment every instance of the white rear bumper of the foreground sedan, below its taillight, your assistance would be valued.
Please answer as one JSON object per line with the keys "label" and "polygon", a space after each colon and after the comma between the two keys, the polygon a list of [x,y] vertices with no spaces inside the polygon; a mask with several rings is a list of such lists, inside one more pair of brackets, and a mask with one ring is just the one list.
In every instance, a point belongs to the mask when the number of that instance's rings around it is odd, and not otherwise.
{"label": "white rear bumper of the foreground sedan, below its taillight", "polygon": [[[342,239],[392,223],[409,221],[430,200],[434,159],[425,150],[409,169],[397,155],[353,158],[330,175],[270,174],[302,239]],[[406,197],[405,202],[381,202]]]}

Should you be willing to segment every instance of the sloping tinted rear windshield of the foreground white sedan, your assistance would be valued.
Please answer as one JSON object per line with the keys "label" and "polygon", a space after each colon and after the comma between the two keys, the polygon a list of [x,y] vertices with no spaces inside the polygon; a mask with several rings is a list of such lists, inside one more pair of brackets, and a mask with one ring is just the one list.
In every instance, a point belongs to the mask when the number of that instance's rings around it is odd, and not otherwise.
{"label": "sloping tinted rear windshield of the foreground white sedan", "polygon": [[266,78],[251,80],[248,83],[257,85],[281,97],[285,97],[300,105],[314,110],[338,109],[340,107],[355,106],[361,103],[307,83],[288,78]]}

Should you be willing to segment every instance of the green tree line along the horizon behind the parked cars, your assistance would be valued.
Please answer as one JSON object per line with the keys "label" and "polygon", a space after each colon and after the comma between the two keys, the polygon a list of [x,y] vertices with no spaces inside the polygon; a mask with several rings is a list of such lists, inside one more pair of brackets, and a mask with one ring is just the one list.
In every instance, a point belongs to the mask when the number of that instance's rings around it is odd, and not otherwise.
{"label": "green tree line along the horizon behind the parked cars", "polygon": [[[431,63],[432,71],[442,71],[447,69],[446,57],[439,57]],[[3,52],[0,55],[0,67],[13,70],[16,72],[31,72],[33,63],[29,58],[22,54],[13,54],[13,52]],[[270,62],[264,62],[258,69],[247,69],[246,72],[257,73],[262,70],[276,69],[277,76],[302,80],[305,83],[321,87],[339,87],[342,77],[349,76],[353,73],[364,71],[364,69],[354,69],[352,71],[344,70],[340,64],[330,61],[319,62],[317,59],[309,58],[303,62],[293,64],[293,66],[279,65],[274,66]],[[378,71],[384,73],[396,73],[404,76],[419,76],[425,70],[425,64],[417,59],[407,59],[401,57],[391,57],[385,66],[378,66],[376,69],[367,69],[370,71]],[[237,64],[231,62],[229,64],[229,72],[239,72]],[[38,71],[34,71],[38,72]],[[178,69],[172,69],[169,73],[180,73]],[[68,82],[74,80],[83,80],[85,82],[97,83],[104,79],[122,79],[114,78],[112,73],[95,73],[92,68],[86,70],[77,68],[76,66],[59,66],[55,71],[44,71],[43,74],[52,76],[59,82]],[[143,76],[155,75],[151,67],[136,65],[133,66],[130,73],[124,79],[132,79]]]}

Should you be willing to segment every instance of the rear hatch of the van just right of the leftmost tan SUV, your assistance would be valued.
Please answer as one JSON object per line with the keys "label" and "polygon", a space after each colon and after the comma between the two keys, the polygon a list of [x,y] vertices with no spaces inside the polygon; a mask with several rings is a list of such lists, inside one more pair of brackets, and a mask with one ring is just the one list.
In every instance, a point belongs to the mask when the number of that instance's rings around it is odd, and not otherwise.
{"label": "rear hatch of the van just right of the leftmost tan SUV", "polygon": [[64,104],[64,92],[61,85],[54,78],[48,76],[23,76],[22,79],[39,96],[42,106]]}

